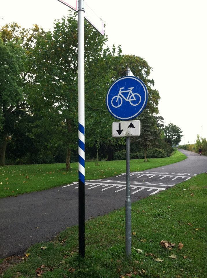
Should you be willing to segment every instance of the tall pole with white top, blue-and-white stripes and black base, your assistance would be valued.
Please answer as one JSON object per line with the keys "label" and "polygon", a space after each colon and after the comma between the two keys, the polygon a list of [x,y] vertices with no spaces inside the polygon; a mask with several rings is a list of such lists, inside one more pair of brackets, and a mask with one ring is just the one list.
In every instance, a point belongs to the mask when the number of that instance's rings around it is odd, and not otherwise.
{"label": "tall pole with white top, blue-and-white stripes and black base", "polygon": [[79,255],[85,256],[84,0],[78,1],[78,211]]}

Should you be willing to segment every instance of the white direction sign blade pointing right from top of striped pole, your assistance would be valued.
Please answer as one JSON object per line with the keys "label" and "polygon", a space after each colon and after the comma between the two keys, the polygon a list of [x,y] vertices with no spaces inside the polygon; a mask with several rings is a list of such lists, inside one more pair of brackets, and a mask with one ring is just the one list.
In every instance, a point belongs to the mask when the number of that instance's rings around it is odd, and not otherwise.
{"label": "white direction sign blade pointing right from top of striped pole", "polygon": [[97,14],[87,5],[84,3],[84,10],[85,14],[84,17],[91,23],[98,32],[104,35],[104,22],[100,19]]}

